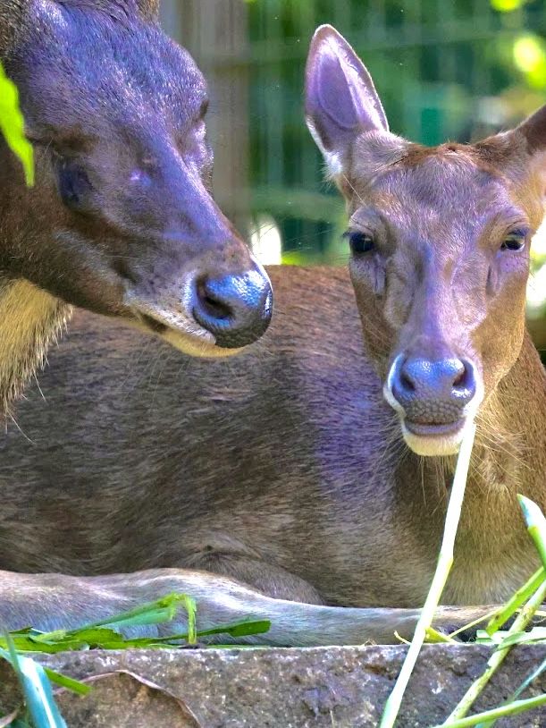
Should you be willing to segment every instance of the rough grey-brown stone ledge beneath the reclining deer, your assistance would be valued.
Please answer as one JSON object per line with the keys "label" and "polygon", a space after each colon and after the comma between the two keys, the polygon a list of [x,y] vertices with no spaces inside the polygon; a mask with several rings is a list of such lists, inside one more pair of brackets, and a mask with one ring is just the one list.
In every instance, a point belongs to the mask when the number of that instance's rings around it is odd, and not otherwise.
{"label": "rough grey-brown stone ledge beneath the reclining deer", "polygon": [[[86,698],[62,691],[69,728],[373,728],[405,655],[404,647],[200,649],[74,652],[40,661],[90,680]],[[426,646],[400,714],[399,728],[441,724],[482,673],[489,648]],[[546,657],[517,648],[476,703],[496,707]],[[546,692],[546,673],[525,697]],[[18,689],[0,666],[0,703],[16,707]],[[546,726],[546,710],[499,722],[499,728]]]}

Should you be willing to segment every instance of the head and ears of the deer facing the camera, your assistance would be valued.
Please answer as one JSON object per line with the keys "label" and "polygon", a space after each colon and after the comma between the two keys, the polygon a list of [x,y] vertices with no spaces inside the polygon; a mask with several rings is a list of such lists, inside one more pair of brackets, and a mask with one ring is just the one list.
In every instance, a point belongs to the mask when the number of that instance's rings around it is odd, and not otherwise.
{"label": "head and ears of the deer facing the camera", "polygon": [[323,26],[307,123],[347,200],[350,273],[384,396],[416,453],[457,452],[521,350],[546,107],[475,145],[412,144],[389,131],[364,65]]}

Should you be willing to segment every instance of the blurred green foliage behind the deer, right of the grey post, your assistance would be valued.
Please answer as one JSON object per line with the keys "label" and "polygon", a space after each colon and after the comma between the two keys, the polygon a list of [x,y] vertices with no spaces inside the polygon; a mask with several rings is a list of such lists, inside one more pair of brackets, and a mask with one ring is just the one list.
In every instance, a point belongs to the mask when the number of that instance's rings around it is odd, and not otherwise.
{"label": "blurred green foliage behind the deer, right of the grey post", "polygon": [[508,129],[542,105],[545,9],[546,0],[248,0],[248,47],[234,68],[248,68],[252,213],[273,218],[286,259],[345,264],[336,193],[303,123],[317,25],[332,23],[361,55],[392,131],[432,145]]}

